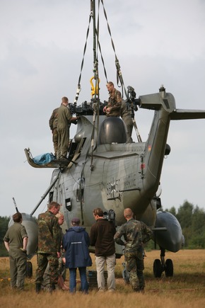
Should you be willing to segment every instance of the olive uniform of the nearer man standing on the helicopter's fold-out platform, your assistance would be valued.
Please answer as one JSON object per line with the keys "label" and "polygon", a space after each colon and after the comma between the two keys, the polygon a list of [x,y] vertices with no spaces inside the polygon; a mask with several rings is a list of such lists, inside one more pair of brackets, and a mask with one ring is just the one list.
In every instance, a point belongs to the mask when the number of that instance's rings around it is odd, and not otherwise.
{"label": "olive uniform of the nearer man standing on the helicopter's fold-out platform", "polygon": [[69,127],[71,125],[71,113],[70,109],[65,105],[61,105],[58,110],[58,124],[57,131],[59,134],[58,139],[58,153],[57,159],[66,157],[69,149]]}

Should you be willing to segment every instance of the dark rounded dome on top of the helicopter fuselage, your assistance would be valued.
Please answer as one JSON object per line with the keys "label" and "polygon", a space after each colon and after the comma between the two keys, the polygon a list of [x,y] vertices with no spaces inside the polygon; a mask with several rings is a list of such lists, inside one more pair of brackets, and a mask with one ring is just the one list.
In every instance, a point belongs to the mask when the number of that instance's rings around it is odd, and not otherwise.
{"label": "dark rounded dome on top of the helicopter fuselage", "polygon": [[120,118],[107,117],[100,125],[98,144],[126,143],[126,127]]}

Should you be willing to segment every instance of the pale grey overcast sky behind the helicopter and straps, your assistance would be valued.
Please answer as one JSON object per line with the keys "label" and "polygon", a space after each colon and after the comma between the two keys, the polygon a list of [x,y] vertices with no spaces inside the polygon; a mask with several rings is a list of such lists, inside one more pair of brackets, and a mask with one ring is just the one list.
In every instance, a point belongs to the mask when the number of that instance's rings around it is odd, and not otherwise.
{"label": "pale grey overcast sky behind the helicopter and straps", "polygon": [[[163,84],[177,108],[205,109],[205,1],[104,4],[125,86],[133,86],[139,96],[156,93]],[[52,169],[31,167],[24,149],[30,147],[33,156],[53,152],[49,117],[62,96],[74,101],[89,14],[89,0],[0,0],[1,216],[15,212],[13,197],[18,210],[30,213],[49,186]],[[90,26],[78,103],[90,100],[92,31]],[[100,44],[107,79],[117,86],[102,6]],[[103,74],[101,69],[102,101],[107,99]],[[150,110],[136,113],[143,141],[152,118]],[[178,208],[185,200],[205,208],[205,120],[172,121],[168,144],[171,152],[161,176],[164,209]],[[39,212],[46,204],[47,198]]]}

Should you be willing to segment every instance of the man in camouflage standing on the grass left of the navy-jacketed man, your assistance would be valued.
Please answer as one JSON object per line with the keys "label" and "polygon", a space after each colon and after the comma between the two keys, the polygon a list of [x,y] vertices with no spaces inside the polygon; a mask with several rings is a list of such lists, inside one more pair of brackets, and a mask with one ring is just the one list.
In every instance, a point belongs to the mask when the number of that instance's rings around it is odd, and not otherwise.
{"label": "man in camouflage standing on the grass left of the navy-jacketed man", "polygon": [[49,204],[45,213],[38,215],[38,249],[37,249],[37,270],[36,270],[36,292],[41,290],[43,274],[49,263],[50,269],[50,290],[55,290],[59,278],[59,258],[61,256],[61,235],[59,233],[59,222],[57,213],[60,210],[59,203]]}

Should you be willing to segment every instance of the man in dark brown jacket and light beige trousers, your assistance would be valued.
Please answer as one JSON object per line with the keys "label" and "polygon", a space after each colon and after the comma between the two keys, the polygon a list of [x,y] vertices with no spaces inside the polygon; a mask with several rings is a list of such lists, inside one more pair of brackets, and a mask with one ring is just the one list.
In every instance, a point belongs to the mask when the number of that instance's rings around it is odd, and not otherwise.
{"label": "man in dark brown jacket and light beige trousers", "polygon": [[96,220],[90,229],[90,245],[95,246],[95,264],[97,269],[98,290],[105,291],[105,263],[107,266],[107,288],[115,291],[115,224],[104,219],[100,207],[93,210]]}

